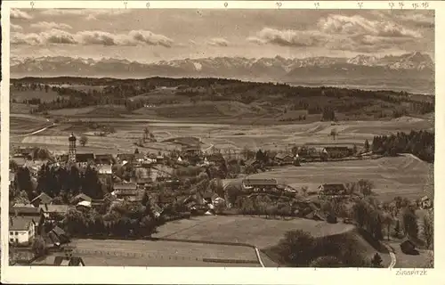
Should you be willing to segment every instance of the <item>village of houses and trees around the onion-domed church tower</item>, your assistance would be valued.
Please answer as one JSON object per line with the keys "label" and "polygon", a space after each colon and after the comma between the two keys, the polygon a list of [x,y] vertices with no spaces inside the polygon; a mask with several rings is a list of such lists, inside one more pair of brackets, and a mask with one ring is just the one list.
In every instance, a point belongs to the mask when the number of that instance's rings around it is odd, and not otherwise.
{"label": "village of houses and trees around the onion-domed church tower", "polygon": [[[308,162],[380,157],[372,154],[368,142],[362,150],[356,146],[303,146],[278,153],[245,150],[233,156],[203,151],[197,138],[178,141],[179,149],[164,153],[142,153],[135,148],[130,153],[95,154],[78,151],[77,136],[71,134],[67,138],[68,153],[14,149],[9,176],[9,241],[16,250],[14,263],[42,265],[33,263],[36,256],[62,252],[62,256],[53,257],[52,265],[85,265],[81,257],[73,256],[69,246],[73,238],[99,235],[101,239],[150,239],[157,226],[190,216],[263,213],[335,224],[341,214],[322,203],[348,203],[361,194],[369,195],[371,182],[320,183],[317,189],[295,189],[267,178],[267,173],[280,167],[302,167]],[[255,177],[258,173],[265,178]],[[261,202],[263,207],[252,208],[252,198],[257,195],[267,196],[267,200]],[[417,199],[415,206],[404,199],[394,200],[387,207],[398,211],[403,203],[430,210],[433,206],[425,196]],[[136,217],[139,224],[126,223],[119,218],[124,213],[145,217]],[[109,218],[111,214],[117,217]],[[93,222],[82,222],[78,215],[96,216]],[[102,215],[100,219],[98,215]],[[351,218],[344,218],[344,224],[352,224]]]}

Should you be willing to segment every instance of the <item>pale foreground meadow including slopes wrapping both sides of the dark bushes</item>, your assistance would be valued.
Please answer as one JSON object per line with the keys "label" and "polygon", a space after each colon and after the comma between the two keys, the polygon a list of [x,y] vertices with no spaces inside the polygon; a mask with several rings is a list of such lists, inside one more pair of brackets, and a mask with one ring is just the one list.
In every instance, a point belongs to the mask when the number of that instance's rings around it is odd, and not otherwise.
{"label": "pale foreground meadow including slopes wrapping both sides of the dark bushes", "polygon": [[[254,245],[263,254],[266,267],[276,267],[274,248],[286,232],[302,230],[314,238],[329,237],[341,244],[344,240],[354,240],[354,248],[370,258],[376,253],[367,240],[355,230],[352,224],[328,224],[309,219],[289,220],[265,219],[257,216],[198,216],[190,220],[180,220],[164,224],[158,228],[156,237],[185,240],[212,240],[221,242],[241,242]],[[379,253],[384,265],[389,265],[391,257],[387,252]],[[272,257],[272,259],[271,259]]]}

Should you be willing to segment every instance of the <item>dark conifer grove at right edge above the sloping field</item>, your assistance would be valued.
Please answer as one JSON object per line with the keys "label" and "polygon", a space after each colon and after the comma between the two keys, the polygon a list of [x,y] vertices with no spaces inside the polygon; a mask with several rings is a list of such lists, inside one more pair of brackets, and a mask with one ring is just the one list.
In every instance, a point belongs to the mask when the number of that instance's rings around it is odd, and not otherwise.
{"label": "dark conifer grove at right edge above the sloping field", "polygon": [[372,141],[372,151],[395,156],[408,152],[427,162],[434,161],[434,133],[411,131],[409,134],[398,132],[391,135],[377,135]]}

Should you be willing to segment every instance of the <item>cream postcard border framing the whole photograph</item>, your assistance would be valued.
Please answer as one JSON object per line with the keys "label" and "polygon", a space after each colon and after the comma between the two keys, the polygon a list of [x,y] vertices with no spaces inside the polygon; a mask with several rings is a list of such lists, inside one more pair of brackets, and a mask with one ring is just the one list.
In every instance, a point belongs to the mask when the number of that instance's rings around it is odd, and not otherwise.
{"label": "cream postcard border framing the whole photograph", "polygon": [[[392,3],[393,5],[391,6]],[[403,6],[400,5],[403,3]],[[417,5],[414,5],[417,4]],[[435,163],[434,185],[436,189],[445,189],[441,180],[441,169],[445,169],[444,137],[445,98],[445,54],[441,36],[445,35],[445,3],[441,1],[4,1],[2,3],[2,74],[1,85],[1,176],[8,177],[9,157],[9,54],[10,54],[10,20],[11,8],[115,8],[115,9],[384,9],[389,10],[435,10]],[[439,94],[439,95],[437,95]],[[1,216],[2,224],[8,224],[8,180],[1,181]],[[434,191],[434,204],[441,209],[444,194]],[[9,266],[8,265],[8,229],[3,226],[1,281],[5,283],[57,283],[57,284],[296,284],[321,283],[323,281],[340,281],[342,283],[373,284],[378,281],[409,282],[443,281],[441,268],[444,247],[441,245],[443,225],[441,221],[445,212],[435,210],[434,269],[425,271],[425,275],[399,275],[398,269],[315,269],[315,268],[223,268],[223,267],[54,267],[46,266]],[[409,271],[408,269],[405,269]],[[417,272],[422,269],[412,269]]]}

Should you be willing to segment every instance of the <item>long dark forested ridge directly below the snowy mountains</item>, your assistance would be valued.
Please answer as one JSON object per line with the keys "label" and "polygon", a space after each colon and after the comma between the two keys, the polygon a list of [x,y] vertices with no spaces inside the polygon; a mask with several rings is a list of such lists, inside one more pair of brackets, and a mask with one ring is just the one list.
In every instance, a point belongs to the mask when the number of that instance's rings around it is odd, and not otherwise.
{"label": "long dark forested ridge directly below the snowy mountains", "polygon": [[[72,77],[61,78],[23,78],[17,85],[32,82],[66,82],[66,80],[79,81]],[[242,82],[239,80],[220,78],[165,78],[151,77],[145,79],[111,79],[111,78],[82,78],[80,80],[86,85],[103,85],[101,90],[73,91],[73,88],[53,86],[53,91],[61,96],[68,95],[77,100],[66,102],[51,102],[42,105],[37,110],[51,110],[61,108],[78,108],[98,104],[119,104],[127,106],[128,110],[134,110],[140,103],[135,105],[127,99],[140,94],[146,94],[156,86],[177,87],[183,86],[176,94],[187,95],[190,98],[199,97],[200,100],[230,100],[250,104],[251,102],[269,102],[268,98],[274,96],[272,105],[298,106],[299,109],[308,110],[310,114],[323,114],[325,120],[332,119],[332,111],[344,113],[376,113],[380,117],[400,117],[404,114],[425,114],[434,110],[434,102],[429,97],[424,101],[412,98],[409,94],[391,91],[365,91],[358,89],[345,89],[335,87],[304,87],[291,86],[275,83]],[[174,102],[171,98],[161,101],[164,103]],[[173,101],[172,101],[173,100]],[[190,99],[191,100],[191,99]],[[401,107],[401,103],[404,103]],[[376,109],[366,110],[367,107]],[[384,110],[389,110],[387,114]]]}

